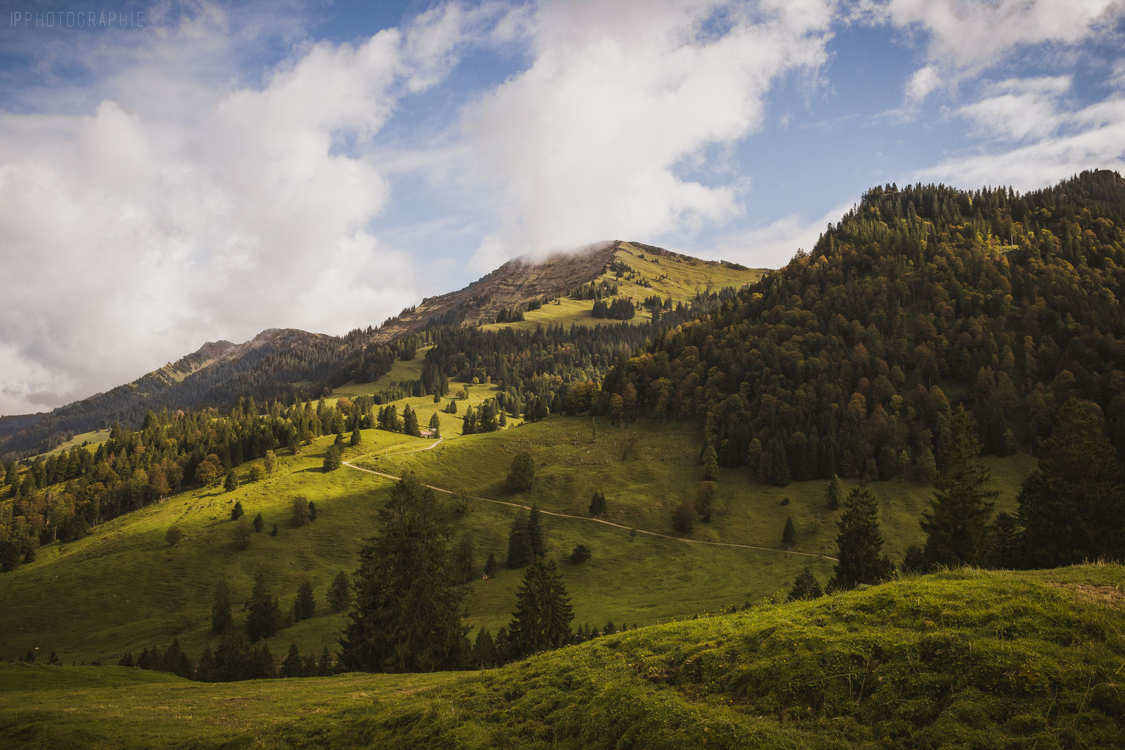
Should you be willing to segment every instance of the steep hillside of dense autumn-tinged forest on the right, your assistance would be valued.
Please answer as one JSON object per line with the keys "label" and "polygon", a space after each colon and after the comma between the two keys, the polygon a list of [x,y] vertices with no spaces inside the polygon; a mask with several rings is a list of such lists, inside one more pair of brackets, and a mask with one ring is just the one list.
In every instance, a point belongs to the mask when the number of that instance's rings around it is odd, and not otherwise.
{"label": "steep hillside of dense autumn-tinged forest on the right", "polygon": [[1125,180],[1108,171],[1025,195],[875,188],[604,390],[699,419],[719,463],[778,485],[929,479],[958,403],[989,453],[1034,453],[1070,396],[1125,451],[1123,227]]}

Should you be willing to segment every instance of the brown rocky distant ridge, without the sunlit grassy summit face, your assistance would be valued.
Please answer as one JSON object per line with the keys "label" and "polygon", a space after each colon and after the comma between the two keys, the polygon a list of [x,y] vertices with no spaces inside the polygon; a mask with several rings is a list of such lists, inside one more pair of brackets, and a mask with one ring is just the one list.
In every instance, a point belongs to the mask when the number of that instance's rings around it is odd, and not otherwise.
{"label": "brown rocky distant ridge, without the sunlit grassy summit face", "polygon": [[[724,261],[703,261],[644,243],[622,241],[592,245],[574,255],[543,261],[518,257],[458,291],[428,297],[388,318],[379,327],[344,336],[297,328],[267,328],[250,341],[207,342],[176,362],[102,394],[50,413],[0,418],[0,457],[4,461],[51,450],[74,434],[114,421],[140,425],[148,409],[227,407],[238,397],[291,398],[295,391],[317,396],[361,371],[374,379],[389,369],[404,338],[438,325],[494,323],[502,309],[523,308],[532,299],[562,297],[608,273],[614,261],[637,255],[700,268],[742,269]],[[389,358],[389,359],[388,359]]]}

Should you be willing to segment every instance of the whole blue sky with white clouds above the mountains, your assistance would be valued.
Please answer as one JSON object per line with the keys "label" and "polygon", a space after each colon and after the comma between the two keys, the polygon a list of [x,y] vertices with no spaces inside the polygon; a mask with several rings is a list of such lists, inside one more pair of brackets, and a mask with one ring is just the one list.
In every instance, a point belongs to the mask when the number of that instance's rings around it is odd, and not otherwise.
{"label": "whole blue sky with white clouds above the mountains", "polygon": [[604,240],[1125,162],[1125,0],[0,0],[0,415]]}

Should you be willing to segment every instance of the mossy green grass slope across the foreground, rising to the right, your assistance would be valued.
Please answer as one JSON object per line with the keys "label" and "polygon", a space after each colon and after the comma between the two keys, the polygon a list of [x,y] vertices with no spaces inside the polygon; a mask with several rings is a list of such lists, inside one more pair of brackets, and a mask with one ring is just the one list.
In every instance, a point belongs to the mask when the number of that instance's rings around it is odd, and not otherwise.
{"label": "mossy green grass slope across the foreground, rising to the right", "polygon": [[956,570],[484,672],[213,686],[8,666],[0,747],[1120,747],[1123,604],[1118,566]]}

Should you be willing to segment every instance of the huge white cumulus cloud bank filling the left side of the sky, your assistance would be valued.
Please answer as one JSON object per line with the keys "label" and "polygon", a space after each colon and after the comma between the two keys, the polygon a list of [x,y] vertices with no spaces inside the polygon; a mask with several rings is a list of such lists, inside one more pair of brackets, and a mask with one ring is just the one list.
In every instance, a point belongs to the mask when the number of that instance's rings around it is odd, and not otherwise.
{"label": "huge white cumulus cloud bank filling the left side of the sky", "polygon": [[[152,54],[199,22],[154,29]],[[0,413],[109,388],[206,340],[342,333],[414,301],[412,263],[367,231],[388,183],[341,137],[370,137],[439,80],[472,22],[444,7],[358,46],[305,47],[261,87],[210,88],[189,118],[110,99],[0,116]],[[106,87],[152,70],[123,66]]]}

